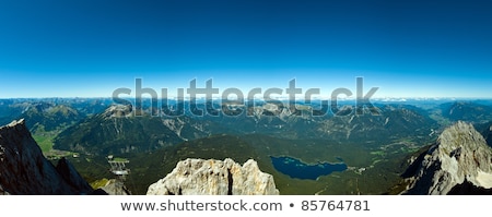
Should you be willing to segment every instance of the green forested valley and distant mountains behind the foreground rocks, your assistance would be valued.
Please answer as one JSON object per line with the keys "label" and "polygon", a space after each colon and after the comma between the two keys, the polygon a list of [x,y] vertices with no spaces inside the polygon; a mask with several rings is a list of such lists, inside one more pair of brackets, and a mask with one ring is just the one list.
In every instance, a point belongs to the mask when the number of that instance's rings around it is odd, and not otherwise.
{"label": "green forested valley and distant mountains behind the foreground rocks", "polygon": [[[221,108],[214,101],[208,104]],[[54,165],[60,159],[69,161],[93,185],[113,177],[107,155],[129,159],[131,174],[126,184],[133,194],[144,194],[150,184],[187,158],[255,159],[261,170],[273,176],[280,194],[398,194],[425,180],[409,168],[423,167],[415,159],[422,153],[433,156],[431,149],[435,148],[430,147],[443,141],[449,126],[464,125],[460,120],[472,124],[461,130],[475,137],[480,134],[490,146],[490,105],[487,100],[379,101],[375,105],[378,116],[355,114],[350,104],[337,113],[309,116],[306,105],[296,104],[297,109],[291,111],[281,105],[259,103],[241,107],[254,111],[250,113],[236,112],[237,108],[230,106],[230,113],[192,116],[188,110],[169,117],[151,116],[149,105],[136,116],[140,108],[110,99],[2,99],[0,121],[8,124],[9,119],[24,119],[26,130]],[[284,159],[284,167],[290,166],[289,160],[298,160],[298,167],[343,164],[347,169],[315,179],[295,178],[279,169],[273,159]],[[432,193],[406,193],[415,192]],[[462,189],[450,192],[462,193]]]}

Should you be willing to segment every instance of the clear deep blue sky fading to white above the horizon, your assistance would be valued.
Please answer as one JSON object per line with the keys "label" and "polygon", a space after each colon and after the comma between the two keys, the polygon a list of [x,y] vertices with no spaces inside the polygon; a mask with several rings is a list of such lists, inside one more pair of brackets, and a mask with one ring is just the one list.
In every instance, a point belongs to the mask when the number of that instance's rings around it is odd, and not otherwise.
{"label": "clear deep blue sky fading to white above the horizon", "polygon": [[[492,97],[492,1],[0,1],[0,98],[118,87]],[[173,91],[171,91],[173,92]]]}

